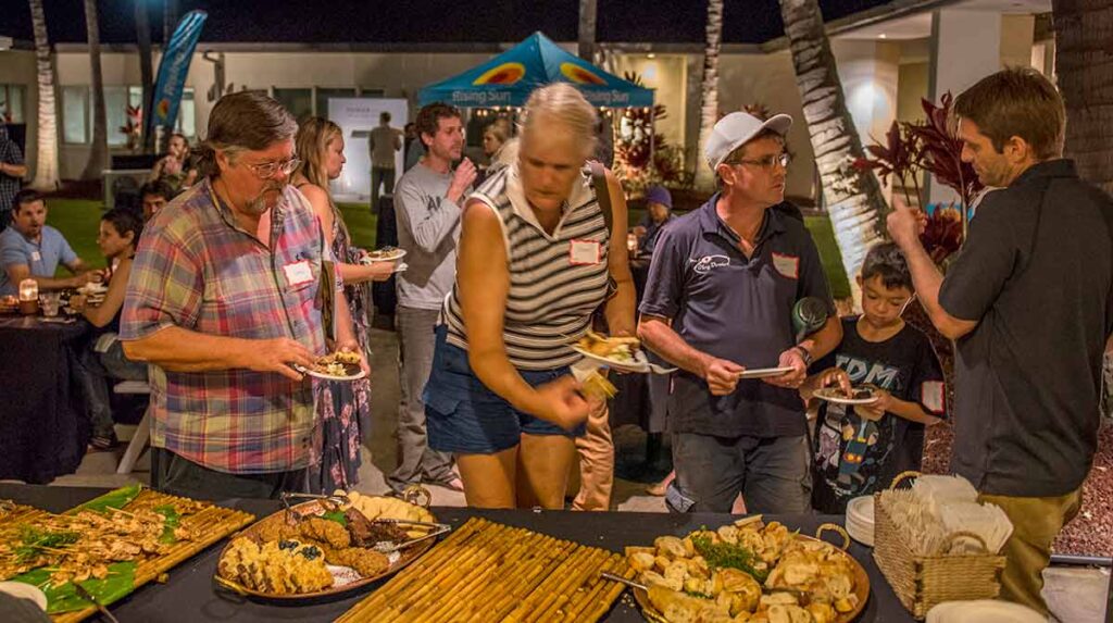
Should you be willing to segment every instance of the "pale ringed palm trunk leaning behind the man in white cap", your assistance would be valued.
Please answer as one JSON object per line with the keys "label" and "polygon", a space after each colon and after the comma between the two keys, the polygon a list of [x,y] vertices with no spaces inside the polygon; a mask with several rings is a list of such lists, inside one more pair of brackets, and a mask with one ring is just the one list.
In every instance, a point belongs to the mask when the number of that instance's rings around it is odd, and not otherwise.
{"label": "pale ringed palm trunk leaning behind the man in white cap", "polygon": [[827,214],[857,306],[860,291],[854,277],[861,268],[866,251],[881,239],[880,218],[887,209],[885,198],[874,174],[859,175],[850,166],[866,154],[846,107],[819,2],[779,1]]}

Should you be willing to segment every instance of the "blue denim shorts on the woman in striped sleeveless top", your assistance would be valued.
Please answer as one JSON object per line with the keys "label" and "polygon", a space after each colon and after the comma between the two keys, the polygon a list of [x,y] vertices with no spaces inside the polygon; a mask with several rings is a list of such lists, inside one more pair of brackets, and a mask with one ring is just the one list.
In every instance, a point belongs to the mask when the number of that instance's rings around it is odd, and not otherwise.
{"label": "blue denim shorts on the woman in striped sleeveless top", "polygon": [[[467,364],[467,352],[449,344],[446,336],[445,326],[436,327],[433,370],[423,394],[431,448],[460,454],[494,454],[516,446],[523,434],[583,435],[583,425],[565,431],[515,409],[487,389]],[[533,387],[571,374],[568,366],[518,372]]]}

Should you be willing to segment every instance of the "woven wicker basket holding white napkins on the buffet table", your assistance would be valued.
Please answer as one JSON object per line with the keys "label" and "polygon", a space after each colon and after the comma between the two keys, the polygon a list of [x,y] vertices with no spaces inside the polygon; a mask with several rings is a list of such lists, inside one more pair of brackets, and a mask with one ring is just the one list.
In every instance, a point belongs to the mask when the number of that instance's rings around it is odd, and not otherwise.
{"label": "woven wicker basket holding white napkins on the buffet table", "polygon": [[[896,488],[900,481],[918,475],[905,472],[894,478],[889,488]],[[889,516],[885,492],[874,494],[874,560],[913,616],[923,620],[932,606],[943,602],[997,596],[1005,557],[991,554],[981,536],[956,532],[935,554],[916,554]],[[955,541],[963,537],[976,541],[982,546],[982,553],[948,555],[946,552]]]}

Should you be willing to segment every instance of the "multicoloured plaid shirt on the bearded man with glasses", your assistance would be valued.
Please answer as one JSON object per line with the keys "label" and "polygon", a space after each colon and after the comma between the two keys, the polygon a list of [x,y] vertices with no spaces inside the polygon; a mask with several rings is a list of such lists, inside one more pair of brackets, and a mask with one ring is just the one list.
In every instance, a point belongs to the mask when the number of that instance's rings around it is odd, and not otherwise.
{"label": "multicoloured plaid shirt on the bearded man with glasses", "polygon": [[[236,225],[208,180],[160,210],[139,241],[120,339],[175,326],[247,339],[290,337],[323,354],[316,300],[328,256],[319,221],[292,186],[272,216],[268,249]],[[288,285],[285,267],[301,263],[313,278]],[[311,380],[151,366],[151,445],[234,474],[305,467],[319,438]]]}

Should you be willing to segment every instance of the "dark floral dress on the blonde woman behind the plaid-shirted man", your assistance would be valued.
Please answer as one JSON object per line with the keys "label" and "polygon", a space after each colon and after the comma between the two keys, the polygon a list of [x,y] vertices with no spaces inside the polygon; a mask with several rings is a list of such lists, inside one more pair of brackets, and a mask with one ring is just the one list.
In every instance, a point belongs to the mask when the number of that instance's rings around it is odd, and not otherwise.
{"label": "dark floral dress on the blonde woman behind the plaid-shirted man", "polygon": [[[333,220],[333,256],[337,261],[358,264],[358,255],[341,226],[341,216]],[[370,352],[370,297],[365,284],[344,286],[344,295],[352,315],[352,328],[364,355]],[[311,487],[322,492],[349,490],[359,482],[362,463],[359,446],[363,434],[361,423],[371,423],[371,379],[355,382],[317,380],[317,413],[321,416],[321,461],[309,468]]]}

